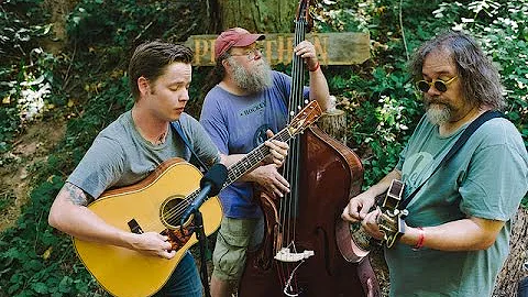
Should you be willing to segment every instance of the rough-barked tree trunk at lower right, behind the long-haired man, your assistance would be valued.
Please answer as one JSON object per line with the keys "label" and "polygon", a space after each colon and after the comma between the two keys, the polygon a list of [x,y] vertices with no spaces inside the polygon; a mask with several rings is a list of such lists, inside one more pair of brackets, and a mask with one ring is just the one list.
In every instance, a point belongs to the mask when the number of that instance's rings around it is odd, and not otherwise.
{"label": "rough-barked tree trunk at lower right, behind the long-haired man", "polygon": [[522,268],[522,264],[527,262],[528,209],[520,207],[512,223],[509,255],[498,274],[493,297],[517,296],[517,284],[528,277],[528,272]]}

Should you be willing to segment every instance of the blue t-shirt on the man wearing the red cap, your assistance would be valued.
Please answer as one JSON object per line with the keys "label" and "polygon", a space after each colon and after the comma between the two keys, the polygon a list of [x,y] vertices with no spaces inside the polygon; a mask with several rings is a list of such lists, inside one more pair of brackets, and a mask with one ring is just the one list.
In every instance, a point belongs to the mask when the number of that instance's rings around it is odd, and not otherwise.
{"label": "blue t-shirt on the man wearing the red cap", "polygon": [[[267,139],[266,130],[276,133],[286,127],[292,78],[277,72],[272,72],[272,77],[273,86],[257,94],[237,96],[218,85],[207,94],[200,123],[220,153],[246,154]],[[305,88],[305,98],[308,98],[308,88]],[[229,218],[261,216],[251,183],[235,182],[219,196]]]}

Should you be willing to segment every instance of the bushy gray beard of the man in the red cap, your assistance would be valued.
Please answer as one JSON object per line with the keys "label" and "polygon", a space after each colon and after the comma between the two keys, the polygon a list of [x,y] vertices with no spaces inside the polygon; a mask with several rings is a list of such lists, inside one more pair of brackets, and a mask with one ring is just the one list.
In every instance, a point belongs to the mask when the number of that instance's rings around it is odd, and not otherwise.
{"label": "bushy gray beard of the man in the red cap", "polygon": [[272,68],[267,63],[264,62],[252,69],[245,69],[234,57],[229,57],[228,62],[233,69],[233,80],[239,88],[253,94],[272,86]]}

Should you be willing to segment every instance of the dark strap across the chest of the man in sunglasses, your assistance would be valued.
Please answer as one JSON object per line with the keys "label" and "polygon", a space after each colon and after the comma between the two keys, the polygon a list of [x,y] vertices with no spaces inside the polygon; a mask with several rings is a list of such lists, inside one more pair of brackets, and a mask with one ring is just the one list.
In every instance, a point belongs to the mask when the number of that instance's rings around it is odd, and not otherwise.
{"label": "dark strap across the chest of the man in sunglasses", "polygon": [[462,135],[460,135],[460,139],[457,140],[454,145],[449,150],[448,154],[443,157],[443,160],[438,164],[438,166],[432,170],[431,175],[429,175],[428,178],[424,179],[408,197],[405,199],[399,206],[398,209],[403,210],[405,209],[410,200],[415,198],[416,194],[420,191],[421,187],[426,184],[426,182],[439,169],[441,168],[444,164],[447,164],[453,156],[454,154],[459,151],[460,147],[462,147],[468,139],[475,132],[483,123],[487,122],[491,119],[494,118],[504,118],[504,114],[498,112],[498,111],[492,111],[487,110],[486,112],[482,113],[479,118],[476,118],[465,130],[462,132]]}

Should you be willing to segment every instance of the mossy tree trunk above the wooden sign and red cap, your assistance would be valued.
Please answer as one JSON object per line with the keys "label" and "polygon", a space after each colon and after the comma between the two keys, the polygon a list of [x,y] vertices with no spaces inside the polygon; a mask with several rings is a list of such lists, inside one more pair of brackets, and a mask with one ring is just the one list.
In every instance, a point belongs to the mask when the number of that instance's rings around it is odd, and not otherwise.
{"label": "mossy tree trunk above the wooden sign and red cap", "polygon": [[286,0],[218,0],[219,26],[223,31],[241,26],[250,32],[286,33],[294,31],[297,1]]}

